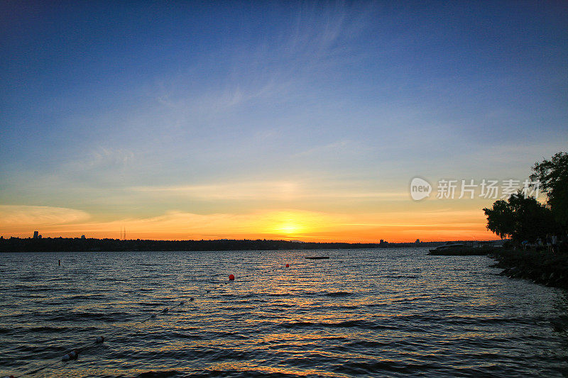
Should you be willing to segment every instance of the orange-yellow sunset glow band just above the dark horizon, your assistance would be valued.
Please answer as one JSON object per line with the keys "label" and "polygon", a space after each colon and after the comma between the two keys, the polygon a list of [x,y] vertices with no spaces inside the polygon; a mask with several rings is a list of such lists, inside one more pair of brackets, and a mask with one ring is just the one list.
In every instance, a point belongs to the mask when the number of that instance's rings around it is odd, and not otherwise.
{"label": "orange-yellow sunset glow band just above the dark horizon", "polygon": [[[24,209],[26,210],[26,209]],[[496,240],[486,230],[482,211],[439,210],[430,212],[391,211],[386,213],[324,213],[283,209],[249,214],[195,214],[170,211],[152,218],[126,218],[120,221],[89,221],[73,217],[61,209],[41,216],[31,213],[20,218],[4,216],[0,226],[4,238],[28,238],[34,230],[43,237],[113,238],[126,228],[127,239],[213,240],[275,239],[305,242],[391,243],[442,240]],[[54,215],[55,214],[55,215]]]}

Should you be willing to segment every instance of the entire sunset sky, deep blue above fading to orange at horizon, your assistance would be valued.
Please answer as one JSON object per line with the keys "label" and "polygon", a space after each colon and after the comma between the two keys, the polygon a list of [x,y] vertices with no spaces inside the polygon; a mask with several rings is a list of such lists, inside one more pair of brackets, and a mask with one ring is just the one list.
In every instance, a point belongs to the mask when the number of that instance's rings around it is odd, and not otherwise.
{"label": "entire sunset sky, deep blue above fading to orange at horizon", "polygon": [[0,4],[4,238],[491,240],[567,150],[566,2],[50,3]]}

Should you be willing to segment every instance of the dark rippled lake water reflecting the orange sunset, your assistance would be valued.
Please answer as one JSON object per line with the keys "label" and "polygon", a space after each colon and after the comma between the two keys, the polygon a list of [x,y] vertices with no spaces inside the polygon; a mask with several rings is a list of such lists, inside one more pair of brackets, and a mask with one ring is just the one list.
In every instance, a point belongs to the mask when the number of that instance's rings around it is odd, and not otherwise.
{"label": "dark rippled lake water reflecting the orange sunset", "polygon": [[[426,252],[0,254],[0,373],[568,374],[567,333],[553,326],[567,315],[565,291],[498,276],[488,257]],[[315,254],[331,258],[304,258]],[[107,340],[58,361],[98,335]]]}

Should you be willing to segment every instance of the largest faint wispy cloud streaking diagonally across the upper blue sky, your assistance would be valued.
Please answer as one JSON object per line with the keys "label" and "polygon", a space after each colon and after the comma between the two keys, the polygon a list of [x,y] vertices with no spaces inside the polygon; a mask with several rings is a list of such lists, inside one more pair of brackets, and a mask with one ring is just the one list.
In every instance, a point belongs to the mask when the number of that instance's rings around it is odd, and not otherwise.
{"label": "largest faint wispy cloud streaking diagonally across the upper blue sky", "polygon": [[[373,26],[368,6],[305,4],[255,44],[231,41],[158,79],[155,101],[187,119],[234,111],[251,103],[275,104],[316,96],[342,65],[366,52],[354,41]],[[290,27],[290,24],[293,27]],[[209,78],[203,67],[217,67]]]}

